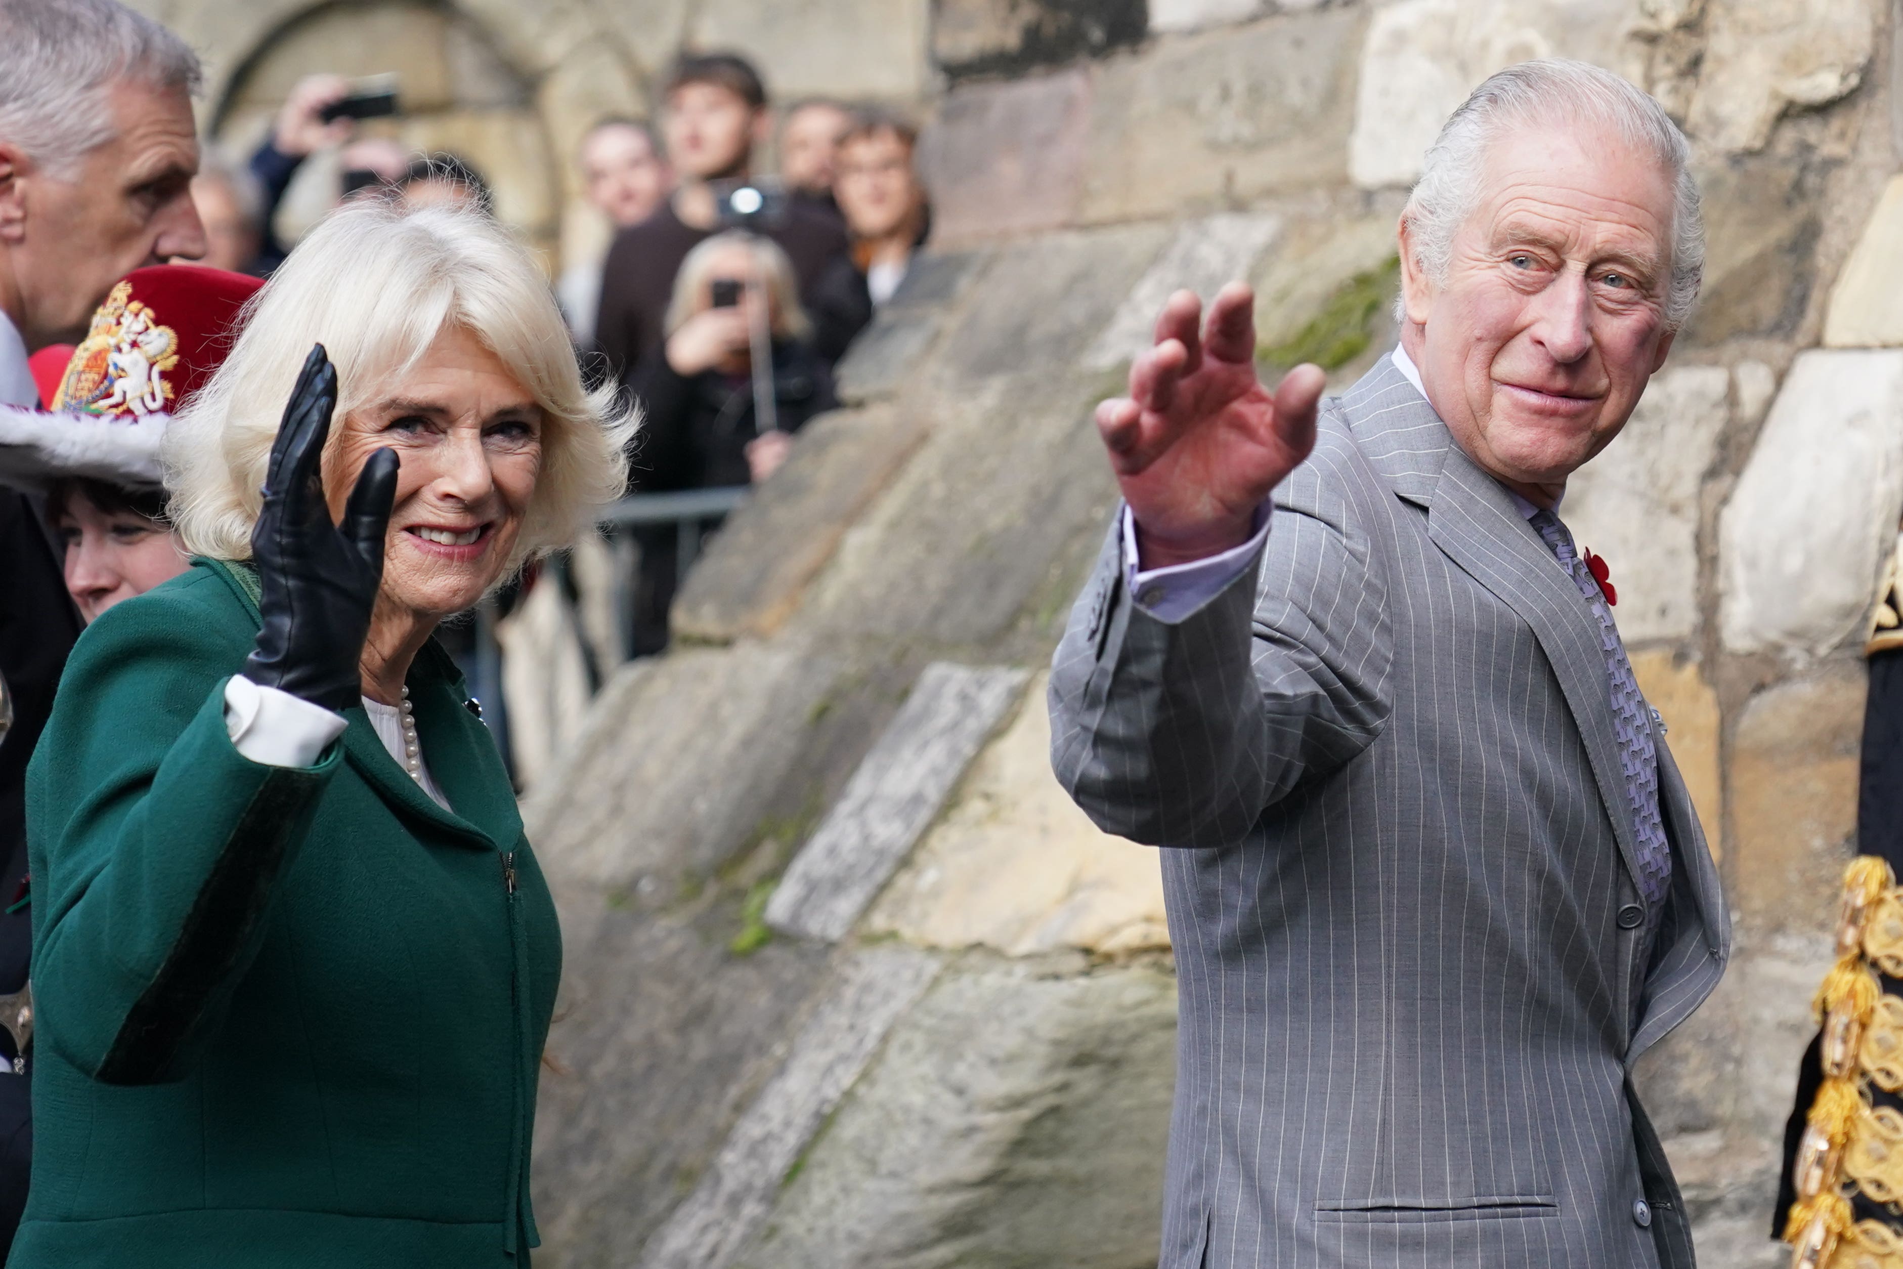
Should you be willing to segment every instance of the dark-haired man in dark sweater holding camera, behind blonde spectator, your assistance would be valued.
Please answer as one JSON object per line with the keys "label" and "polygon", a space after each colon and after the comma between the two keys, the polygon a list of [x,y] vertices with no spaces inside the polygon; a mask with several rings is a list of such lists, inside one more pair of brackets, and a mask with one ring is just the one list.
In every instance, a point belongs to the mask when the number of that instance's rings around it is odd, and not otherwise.
{"label": "dark-haired man in dark sweater holding camera, behind blonde spectator", "polygon": [[769,124],[767,88],[746,59],[702,53],[674,67],[662,133],[679,186],[609,247],[594,325],[609,377],[626,377],[666,341],[681,261],[714,234],[746,228],[771,238],[794,268],[801,303],[847,255],[837,217],[788,198],[776,181],[754,181],[754,148]]}

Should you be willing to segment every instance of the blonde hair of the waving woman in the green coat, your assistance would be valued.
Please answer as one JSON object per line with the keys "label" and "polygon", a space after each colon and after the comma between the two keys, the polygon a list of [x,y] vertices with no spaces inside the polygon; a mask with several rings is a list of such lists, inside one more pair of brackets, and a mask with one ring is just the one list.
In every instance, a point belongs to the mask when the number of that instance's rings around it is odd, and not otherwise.
{"label": "blonde hair of the waving woman in the green coat", "polygon": [[166,432],[171,523],[183,546],[249,559],[270,443],[312,344],[337,367],[337,415],[367,405],[449,325],[470,331],[542,407],[542,462],[516,554],[575,538],[628,481],[636,413],[588,392],[535,261],[480,211],[403,211],[360,198],[325,217],[245,304],[230,356]]}

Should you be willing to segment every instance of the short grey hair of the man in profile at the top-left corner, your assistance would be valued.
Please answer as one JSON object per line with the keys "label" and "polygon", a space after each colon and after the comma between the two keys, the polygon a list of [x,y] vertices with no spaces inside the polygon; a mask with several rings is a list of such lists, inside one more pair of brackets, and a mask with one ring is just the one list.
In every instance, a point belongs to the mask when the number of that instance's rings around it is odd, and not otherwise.
{"label": "short grey hair of the man in profile at the top-left corner", "polygon": [[0,141],[55,177],[114,135],[114,84],[200,86],[185,40],[116,0],[0,0]]}

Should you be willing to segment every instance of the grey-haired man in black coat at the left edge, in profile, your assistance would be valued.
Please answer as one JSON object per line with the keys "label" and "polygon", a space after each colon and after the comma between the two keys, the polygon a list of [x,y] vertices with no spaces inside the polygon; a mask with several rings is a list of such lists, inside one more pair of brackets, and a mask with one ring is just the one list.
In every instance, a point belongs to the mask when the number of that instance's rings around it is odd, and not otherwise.
{"label": "grey-haired man in black coat at the left edge, in profile", "polygon": [[[143,264],[206,251],[192,209],[198,59],[114,0],[0,0],[0,403],[34,405],[27,356],[86,335]],[[27,987],[27,757],[78,618],[34,508],[0,487],[0,995]],[[6,1001],[0,1001],[4,1006]],[[32,1147],[17,1008],[0,1008],[0,1258],[27,1201]]]}

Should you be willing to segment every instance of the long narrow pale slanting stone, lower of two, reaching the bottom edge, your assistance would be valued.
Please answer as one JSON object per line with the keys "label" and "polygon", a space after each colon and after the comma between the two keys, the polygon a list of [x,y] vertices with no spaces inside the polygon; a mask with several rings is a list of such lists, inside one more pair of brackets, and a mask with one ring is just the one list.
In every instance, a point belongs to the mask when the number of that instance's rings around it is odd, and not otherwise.
{"label": "long narrow pale slanting stone, lower of two, reaching the bottom edge", "polygon": [[727,1136],[700,1183],[641,1252],[641,1269],[725,1269],[759,1229],[780,1181],[887,1031],[938,974],[906,947],[854,955]]}

